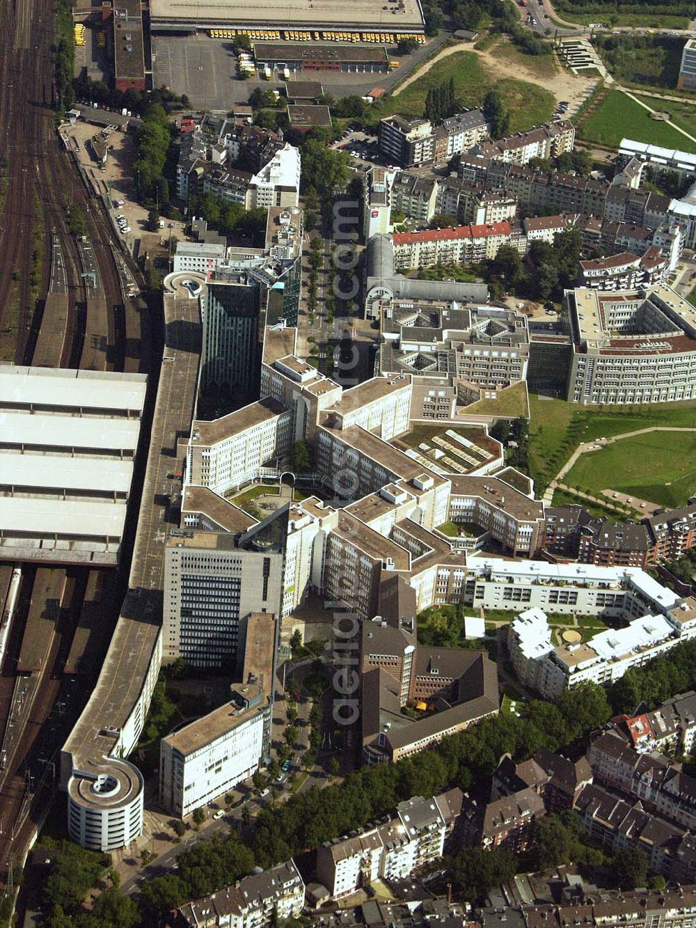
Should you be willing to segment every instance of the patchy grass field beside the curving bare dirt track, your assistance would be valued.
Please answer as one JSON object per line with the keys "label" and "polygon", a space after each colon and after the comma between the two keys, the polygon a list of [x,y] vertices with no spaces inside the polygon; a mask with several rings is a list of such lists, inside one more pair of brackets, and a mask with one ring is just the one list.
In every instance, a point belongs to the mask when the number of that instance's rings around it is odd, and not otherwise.
{"label": "patchy grass field beside the curving bare dirt track", "polygon": [[455,79],[458,101],[467,108],[480,106],[486,93],[496,85],[509,107],[512,132],[547,122],[556,106],[556,98],[543,87],[512,78],[496,81],[485,71],[475,52],[457,52],[442,58],[397,97],[385,97],[380,101],[380,115],[398,112],[407,117],[422,116],[428,91],[447,83],[451,77]]}

